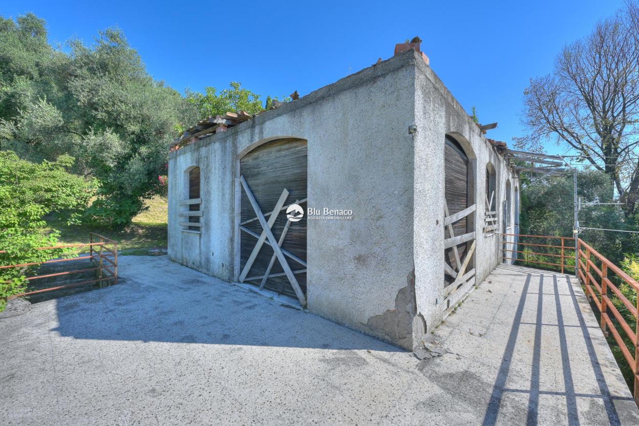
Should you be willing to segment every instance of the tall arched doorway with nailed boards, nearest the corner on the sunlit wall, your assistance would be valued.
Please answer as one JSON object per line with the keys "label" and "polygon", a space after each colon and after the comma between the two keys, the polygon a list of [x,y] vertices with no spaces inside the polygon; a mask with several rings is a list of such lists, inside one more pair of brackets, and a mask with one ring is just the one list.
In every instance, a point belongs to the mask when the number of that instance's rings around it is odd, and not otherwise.
{"label": "tall arched doorway with nailed boards, nearest the corner on the sunlit wall", "polygon": [[468,155],[458,141],[445,137],[444,146],[444,296],[474,282],[474,176]]}

